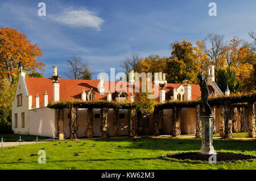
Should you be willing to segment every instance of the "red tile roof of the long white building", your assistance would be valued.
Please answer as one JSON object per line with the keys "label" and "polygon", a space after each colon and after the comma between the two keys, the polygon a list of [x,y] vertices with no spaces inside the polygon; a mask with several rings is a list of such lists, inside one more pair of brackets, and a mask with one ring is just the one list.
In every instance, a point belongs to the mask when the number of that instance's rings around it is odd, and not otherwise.
{"label": "red tile roof of the long white building", "polygon": [[[40,100],[40,107],[43,107],[44,104],[44,92],[47,91],[48,94],[48,102],[52,100],[52,92],[53,92],[53,85],[51,78],[35,78],[35,77],[26,77],[26,86],[28,90],[28,95],[32,95],[32,107],[35,107],[35,96],[38,93],[39,100]],[[106,95],[108,89],[106,89],[106,83],[109,83],[109,90],[110,84],[114,84],[115,87],[119,85],[118,81],[104,81],[105,85],[105,94],[101,95],[98,92],[97,86],[99,81],[94,80],[84,80],[84,79],[59,79],[60,82],[60,100],[68,100],[68,99],[81,99],[81,92],[85,89],[85,91],[93,89],[96,92],[95,98],[96,99],[104,99],[106,100]],[[118,83],[118,85],[117,85]],[[131,85],[129,82],[122,82],[127,83],[126,87]],[[166,89],[166,99],[170,99],[170,95],[172,95],[172,90],[177,89],[181,84],[179,83],[167,83],[167,86],[164,86]],[[116,91],[121,91],[123,85],[118,86],[119,88]],[[213,88],[210,87],[210,92],[212,92]],[[133,89],[134,90],[134,89]],[[214,91],[214,90],[213,90]],[[113,93],[113,92],[112,92]],[[131,92],[127,91],[127,94],[130,96]],[[192,85],[192,100],[198,99],[201,96],[201,91],[199,85]]]}

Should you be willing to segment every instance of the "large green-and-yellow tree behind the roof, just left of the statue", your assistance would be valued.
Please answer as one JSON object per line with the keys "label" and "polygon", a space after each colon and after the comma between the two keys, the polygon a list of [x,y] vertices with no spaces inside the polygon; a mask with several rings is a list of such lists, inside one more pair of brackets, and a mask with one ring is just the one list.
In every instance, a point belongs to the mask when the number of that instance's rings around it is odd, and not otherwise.
{"label": "large green-and-yellow tree behind the roof, just left of the statue", "polygon": [[196,61],[195,48],[192,43],[183,40],[176,41],[171,45],[171,56],[167,61],[167,81],[181,83],[185,79],[197,83],[199,64]]}

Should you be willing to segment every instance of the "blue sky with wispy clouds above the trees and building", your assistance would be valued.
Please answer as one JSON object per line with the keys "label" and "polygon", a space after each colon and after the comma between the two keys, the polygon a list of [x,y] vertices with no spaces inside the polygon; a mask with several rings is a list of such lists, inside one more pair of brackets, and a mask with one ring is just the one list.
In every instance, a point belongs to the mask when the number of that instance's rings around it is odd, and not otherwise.
{"label": "blue sky with wispy clouds above the trees and building", "polygon": [[[46,16],[38,16],[38,3],[46,3]],[[210,2],[217,4],[217,16],[209,16]],[[256,31],[256,1],[11,1],[0,2],[0,24],[18,29],[38,43],[46,64],[65,77],[66,60],[79,55],[94,72],[123,71],[121,61],[133,53],[139,56],[168,56],[168,44],[186,39],[193,44],[209,33],[229,40],[233,36],[250,41],[247,32]]]}

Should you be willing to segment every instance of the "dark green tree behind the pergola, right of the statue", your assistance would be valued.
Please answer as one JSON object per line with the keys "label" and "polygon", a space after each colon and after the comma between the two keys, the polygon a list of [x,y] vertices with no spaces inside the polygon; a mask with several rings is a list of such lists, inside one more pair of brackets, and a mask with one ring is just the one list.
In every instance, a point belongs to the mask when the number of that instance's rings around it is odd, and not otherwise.
{"label": "dark green tree behind the pergola, right of the statue", "polygon": [[220,68],[217,71],[218,81],[217,84],[222,91],[226,90],[226,85],[228,83],[230,92],[239,92],[242,87],[241,81],[236,81],[236,73],[233,69]]}

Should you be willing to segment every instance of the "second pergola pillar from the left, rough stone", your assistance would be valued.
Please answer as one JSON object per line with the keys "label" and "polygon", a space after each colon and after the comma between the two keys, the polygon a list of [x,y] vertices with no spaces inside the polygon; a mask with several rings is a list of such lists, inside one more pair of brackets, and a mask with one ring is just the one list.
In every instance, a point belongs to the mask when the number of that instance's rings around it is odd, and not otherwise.
{"label": "second pergola pillar from the left, rough stone", "polygon": [[70,121],[69,121],[70,139],[77,139],[77,108],[72,107],[70,109]]}

